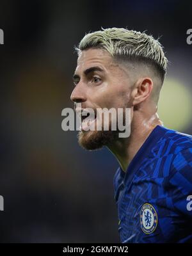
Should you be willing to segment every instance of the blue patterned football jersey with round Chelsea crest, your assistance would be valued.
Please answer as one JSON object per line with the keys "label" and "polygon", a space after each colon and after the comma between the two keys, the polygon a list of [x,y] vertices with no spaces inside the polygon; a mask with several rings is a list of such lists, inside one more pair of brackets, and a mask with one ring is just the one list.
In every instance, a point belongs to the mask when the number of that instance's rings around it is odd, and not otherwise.
{"label": "blue patterned football jersey with round Chelsea crest", "polygon": [[113,182],[122,243],[192,243],[192,136],[157,125]]}

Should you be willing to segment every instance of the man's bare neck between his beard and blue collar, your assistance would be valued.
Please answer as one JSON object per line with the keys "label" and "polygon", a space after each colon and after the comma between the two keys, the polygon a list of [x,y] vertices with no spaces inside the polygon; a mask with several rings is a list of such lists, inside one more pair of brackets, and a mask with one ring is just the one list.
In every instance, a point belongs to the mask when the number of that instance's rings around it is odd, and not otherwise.
{"label": "man's bare neck between his beard and blue collar", "polygon": [[129,163],[131,163],[133,157],[148,138],[150,132],[152,132],[157,125],[163,125],[157,113],[147,118],[137,116],[137,118],[135,117],[132,120],[131,135],[129,138],[118,138],[113,145],[108,146],[124,172],[126,172]]}

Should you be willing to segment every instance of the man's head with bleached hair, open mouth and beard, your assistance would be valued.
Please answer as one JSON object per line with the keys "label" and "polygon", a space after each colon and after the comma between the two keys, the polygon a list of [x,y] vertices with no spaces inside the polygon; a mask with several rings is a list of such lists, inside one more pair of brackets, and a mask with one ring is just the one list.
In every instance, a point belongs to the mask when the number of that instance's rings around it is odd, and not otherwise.
{"label": "man's head with bleached hair, open mouth and beard", "polygon": [[[71,99],[82,108],[156,111],[167,59],[157,40],[145,33],[109,28],[89,33],[76,48],[76,87]],[[95,119],[95,124],[100,122]],[[110,120],[113,122],[113,120]],[[96,149],[110,145],[118,131],[81,131],[79,143]]]}

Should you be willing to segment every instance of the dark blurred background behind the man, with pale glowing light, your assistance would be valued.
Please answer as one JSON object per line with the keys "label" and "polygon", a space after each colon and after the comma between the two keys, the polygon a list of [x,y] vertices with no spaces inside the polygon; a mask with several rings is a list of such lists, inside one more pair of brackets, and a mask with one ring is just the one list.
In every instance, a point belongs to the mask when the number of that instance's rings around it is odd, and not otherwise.
{"label": "dark blurred background behind the man, with pale glowing light", "polygon": [[61,130],[72,107],[74,45],[89,31],[127,27],[161,37],[170,60],[159,102],[164,125],[192,133],[189,1],[0,1],[0,242],[119,242],[118,164]]}

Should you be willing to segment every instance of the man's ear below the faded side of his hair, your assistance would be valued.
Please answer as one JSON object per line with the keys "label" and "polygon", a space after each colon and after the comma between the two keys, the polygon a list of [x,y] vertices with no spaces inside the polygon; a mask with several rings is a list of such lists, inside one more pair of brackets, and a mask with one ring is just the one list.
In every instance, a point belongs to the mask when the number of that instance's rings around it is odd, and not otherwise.
{"label": "man's ear below the faded side of his hair", "polygon": [[139,79],[135,86],[134,90],[132,91],[132,105],[135,106],[137,104],[140,104],[145,99],[147,99],[152,92],[152,89],[154,87],[154,83],[150,77],[144,77]]}

